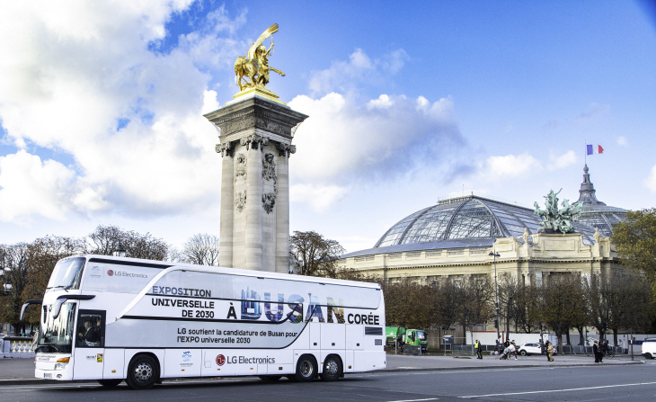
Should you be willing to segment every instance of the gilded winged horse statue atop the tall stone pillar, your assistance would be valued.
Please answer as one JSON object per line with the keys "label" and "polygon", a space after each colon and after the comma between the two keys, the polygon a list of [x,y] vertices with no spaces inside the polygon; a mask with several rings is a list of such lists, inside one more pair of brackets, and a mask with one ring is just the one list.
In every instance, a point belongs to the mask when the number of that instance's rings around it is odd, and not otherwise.
{"label": "gilded winged horse statue atop the tall stone pillar", "polygon": [[[248,49],[246,56],[240,56],[235,61],[235,85],[239,86],[240,92],[257,86],[265,87],[269,84],[270,71],[285,76],[285,73],[279,69],[269,67],[269,56],[273,54],[273,38],[271,35],[277,31],[278,24],[274,23],[268,30],[262,32],[260,38],[255,40],[255,43],[251,45],[251,49]],[[262,44],[267,38],[271,38],[269,49]]]}

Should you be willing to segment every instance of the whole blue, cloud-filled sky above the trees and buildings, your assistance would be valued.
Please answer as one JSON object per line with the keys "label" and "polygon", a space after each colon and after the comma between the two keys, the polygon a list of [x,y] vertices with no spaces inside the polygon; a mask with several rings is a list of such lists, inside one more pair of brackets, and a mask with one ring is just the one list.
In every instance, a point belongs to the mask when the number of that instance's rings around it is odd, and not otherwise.
{"label": "whole blue, cloud-filled sky above the trees and buildings", "polygon": [[654,2],[280,3],[0,5],[0,243],[218,234],[202,114],[274,22],[268,87],[310,115],[292,230],[356,251],[453,192],[576,200],[586,140],[600,200],[654,207]]}

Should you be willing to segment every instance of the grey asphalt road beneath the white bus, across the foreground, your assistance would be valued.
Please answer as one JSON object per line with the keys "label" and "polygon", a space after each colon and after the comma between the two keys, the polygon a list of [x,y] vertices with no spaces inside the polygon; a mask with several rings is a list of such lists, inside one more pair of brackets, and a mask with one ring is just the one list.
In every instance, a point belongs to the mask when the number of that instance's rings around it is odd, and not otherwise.
{"label": "grey asphalt road beneath the white bus, across the foreground", "polygon": [[0,387],[2,401],[653,401],[656,362],[633,366],[374,372],[326,383],[253,377],[166,381],[146,391],[93,383]]}

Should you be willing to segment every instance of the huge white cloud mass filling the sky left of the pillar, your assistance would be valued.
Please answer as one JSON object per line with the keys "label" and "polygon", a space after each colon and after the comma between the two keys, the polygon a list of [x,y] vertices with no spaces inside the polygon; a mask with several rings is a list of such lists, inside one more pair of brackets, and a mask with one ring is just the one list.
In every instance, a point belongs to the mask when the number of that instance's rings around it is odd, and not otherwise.
{"label": "huge white cloud mass filling the sky left of the pillar", "polygon": [[[190,4],[0,4],[0,35],[12,38],[0,41],[6,137],[75,161],[74,170],[23,151],[5,156],[0,220],[111,208],[167,213],[217,203],[216,131],[201,116],[218,107],[207,69],[231,69],[241,44],[229,35],[244,14],[231,20],[221,7],[176,48],[150,51],[159,49],[171,15]],[[19,165],[30,170],[13,172]],[[35,172],[49,174],[50,183]],[[26,201],[26,194],[40,196]]]}

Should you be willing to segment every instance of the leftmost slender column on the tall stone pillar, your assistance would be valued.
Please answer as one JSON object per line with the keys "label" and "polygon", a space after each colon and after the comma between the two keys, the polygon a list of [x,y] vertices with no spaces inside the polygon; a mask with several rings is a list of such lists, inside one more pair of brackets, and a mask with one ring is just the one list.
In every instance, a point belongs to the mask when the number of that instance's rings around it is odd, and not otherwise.
{"label": "leftmost slender column on the tall stone pillar", "polygon": [[235,144],[218,144],[217,152],[223,157],[221,166],[221,222],[219,229],[219,264],[233,267],[233,219],[235,209]]}

